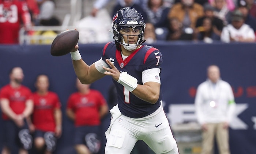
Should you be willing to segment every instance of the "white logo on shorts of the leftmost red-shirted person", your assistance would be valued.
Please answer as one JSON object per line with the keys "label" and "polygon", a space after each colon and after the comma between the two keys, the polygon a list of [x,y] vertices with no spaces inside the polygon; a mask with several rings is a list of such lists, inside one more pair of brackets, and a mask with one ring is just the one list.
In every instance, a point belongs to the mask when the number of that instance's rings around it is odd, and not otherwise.
{"label": "white logo on shorts of the leftmost red-shirted person", "polygon": [[19,140],[22,144],[22,147],[26,150],[31,149],[32,147],[32,136],[29,134],[28,129],[22,129],[19,131]]}

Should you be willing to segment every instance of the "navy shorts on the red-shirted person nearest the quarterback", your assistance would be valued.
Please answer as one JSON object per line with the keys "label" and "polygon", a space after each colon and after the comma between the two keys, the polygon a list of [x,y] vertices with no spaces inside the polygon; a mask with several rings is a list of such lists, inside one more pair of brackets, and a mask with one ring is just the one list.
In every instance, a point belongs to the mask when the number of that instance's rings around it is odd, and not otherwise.
{"label": "navy shorts on the red-shirted person nearest the quarterback", "polygon": [[75,128],[75,145],[86,145],[91,153],[98,153],[101,148],[100,127],[80,126]]}

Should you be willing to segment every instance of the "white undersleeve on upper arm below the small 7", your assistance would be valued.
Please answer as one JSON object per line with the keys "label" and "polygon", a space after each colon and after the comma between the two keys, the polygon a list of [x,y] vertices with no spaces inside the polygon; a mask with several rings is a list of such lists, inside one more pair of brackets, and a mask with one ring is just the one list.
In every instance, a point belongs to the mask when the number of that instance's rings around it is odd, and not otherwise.
{"label": "white undersleeve on upper arm below the small 7", "polygon": [[142,83],[146,82],[157,82],[161,84],[159,73],[160,68],[151,68],[142,72]]}

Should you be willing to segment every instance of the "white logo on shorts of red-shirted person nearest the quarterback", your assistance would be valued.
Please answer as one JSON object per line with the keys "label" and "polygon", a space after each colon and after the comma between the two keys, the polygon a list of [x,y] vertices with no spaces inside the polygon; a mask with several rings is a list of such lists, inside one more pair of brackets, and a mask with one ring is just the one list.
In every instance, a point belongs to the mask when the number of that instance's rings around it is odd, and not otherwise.
{"label": "white logo on shorts of red-shirted person nearest the quarterback", "polygon": [[98,153],[99,149],[101,148],[101,141],[97,134],[89,133],[85,137],[86,146],[92,153]]}

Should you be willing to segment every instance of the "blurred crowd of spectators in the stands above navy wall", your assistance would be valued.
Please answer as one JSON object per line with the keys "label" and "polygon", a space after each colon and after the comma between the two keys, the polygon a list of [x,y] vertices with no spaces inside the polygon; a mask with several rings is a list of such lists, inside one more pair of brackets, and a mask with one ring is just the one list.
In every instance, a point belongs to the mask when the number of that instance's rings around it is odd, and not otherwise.
{"label": "blurred crowd of spectators in the stands above navy wall", "polygon": [[[94,20],[109,1],[95,0],[89,20]],[[0,0],[0,33],[9,34],[8,37],[2,37],[0,43],[18,43],[22,26],[29,29],[32,25],[61,25],[61,20],[54,16],[56,3],[54,0]],[[114,16],[113,12],[123,7],[135,8],[142,14],[146,22],[144,38],[147,44],[175,40],[255,42],[255,0],[117,0],[109,16]],[[54,31],[30,33],[57,35]],[[103,41],[112,41],[109,36],[109,40]],[[97,39],[93,43],[98,43]]]}

